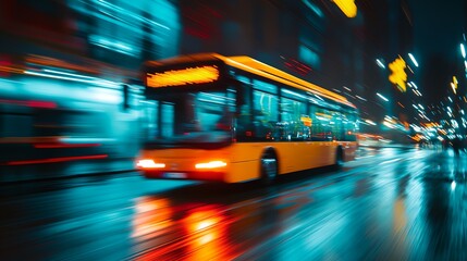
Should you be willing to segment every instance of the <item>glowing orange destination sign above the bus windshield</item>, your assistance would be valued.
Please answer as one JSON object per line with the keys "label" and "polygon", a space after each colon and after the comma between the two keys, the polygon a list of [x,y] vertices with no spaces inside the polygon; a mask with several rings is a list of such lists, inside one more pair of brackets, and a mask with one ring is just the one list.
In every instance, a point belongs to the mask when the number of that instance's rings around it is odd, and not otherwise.
{"label": "glowing orange destination sign above the bus windshield", "polygon": [[163,73],[147,74],[147,86],[152,88],[183,86],[193,84],[208,84],[219,78],[217,66],[198,66],[182,70],[172,70]]}

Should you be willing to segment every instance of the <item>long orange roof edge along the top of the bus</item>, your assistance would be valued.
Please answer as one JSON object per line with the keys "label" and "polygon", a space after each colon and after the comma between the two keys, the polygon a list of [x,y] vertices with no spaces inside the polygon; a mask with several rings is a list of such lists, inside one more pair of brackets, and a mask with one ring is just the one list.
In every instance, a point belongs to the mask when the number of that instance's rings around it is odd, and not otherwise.
{"label": "long orange roof edge along the top of the bus", "polygon": [[274,82],[280,82],[288,86],[293,86],[298,89],[310,91],[311,94],[322,96],[327,99],[333,100],[339,103],[352,107],[356,107],[349,102],[345,97],[340,96],[333,91],[327,90],[318,85],[308,83],[288,73],[285,73],[279,69],[270,66],[266,63],[259,62],[250,57],[224,57],[219,53],[197,53],[188,55],[180,55],[175,58],[150,61],[147,63],[149,66],[163,66],[176,63],[189,63],[189,62],[202,62],[202,61],[219,61],[221,60],[225,64],[246,71]]}

